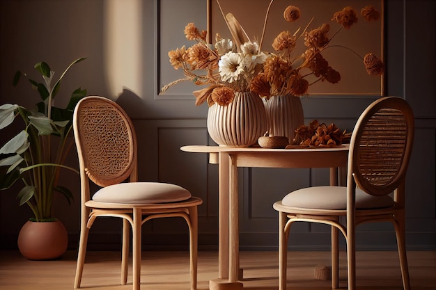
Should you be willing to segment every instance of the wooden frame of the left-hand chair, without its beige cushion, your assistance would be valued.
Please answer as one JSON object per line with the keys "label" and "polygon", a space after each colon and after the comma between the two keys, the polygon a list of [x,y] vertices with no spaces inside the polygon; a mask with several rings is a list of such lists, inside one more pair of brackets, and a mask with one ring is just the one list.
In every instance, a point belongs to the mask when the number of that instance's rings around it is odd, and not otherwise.
{"label": "wooden frame of the left-hand chair, without its beige cushion", "polygon": [[[85,138],[88,134],[89,123],[94,122],[93,118],[111,112],[111,117],[102,118],[95,121],[104,129],[105,120],[113,120],[120,124],[123,134],[128,138],[125,140],[123,148],[128,151],[124,160],[117,160],[118,156],[108,156],[116,163],[116,172],[111,172],[107,168],[100,168],[98,161],[94,161],[90,150],[86,146]],[[100,117],[99,117],[100,118]],[[86,120],[86,121],[85,121]],[[103,123],[103,124],[102,124]],[[118,126],[118,124],[115,124]],[[94,124],[91,124],[93,126]],[[114,124],[113,124],[114,125]],[[108,124],[110,126],[110,124]],[[75,288],[80,288],[81,277],[84,268],[86,255],[86,245],[88,241],[89,229],[93,225],[95,218],[100,216],[111,216],[123,219],[123,247],[121,262],[121,283],[127,283],[127,261],[129,257],[130,227],[132,227],[132,256],[133,256],[133,289],[139,290],[141,283],[141,226],[146,221],[154,218],[181,217],[184,218],[189,227],[189,255],[190,255],[190,275],[191,289],[196,289],[197,284],[197,252],[198,252],[198,217],[197,206],[202,203],[200,198],[189,198],[181,202],[164,203],[116,203],[116,202],[96,202],[91,200],[90,182],[98,186],[109,186],[120,182],[137,182],[137,138],[132,121],[127,116],[123,108],[110,99],[98,96],[90,96],[77,104],[75,108],[73,127],[79,155],[79,170],[81,179],[81,229],[79,238],[79,253],[77,257],[77,269],[75,276]],[[112,133],[110,133],[112,134]],[[127,140],[128,139],[128,140]],[[115,144],[118,145],[118,144]],[[99,156],[101,157],[101,156]],[[122,159],[121,157],[119,157]]]}

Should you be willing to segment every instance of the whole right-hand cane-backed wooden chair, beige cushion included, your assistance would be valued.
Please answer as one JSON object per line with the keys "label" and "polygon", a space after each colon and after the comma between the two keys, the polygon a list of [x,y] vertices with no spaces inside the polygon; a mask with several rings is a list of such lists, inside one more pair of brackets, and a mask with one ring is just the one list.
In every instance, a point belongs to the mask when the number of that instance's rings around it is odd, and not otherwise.
{"label": "whole right-hand cane-backed wooden chair, beige cushion included", "polygon": [[[410,290],[405,249],[405,173],[412,151],[414,117],[403,99],[383,97],[361,114],[350,141],[347,186],[302,188],[274,203],[279,211],[279,289],[286,290],[290,225],[313,222],[332,226],[332,288],[338,288],[338,230],[345,236],[348,289],[356,289],[355,227],[394,224],[403,287]],[[394,193],[391,197],[390,193]],[[345,216],[346,225],[340,218]],[[376,262],[376,261],[374,261]]]}

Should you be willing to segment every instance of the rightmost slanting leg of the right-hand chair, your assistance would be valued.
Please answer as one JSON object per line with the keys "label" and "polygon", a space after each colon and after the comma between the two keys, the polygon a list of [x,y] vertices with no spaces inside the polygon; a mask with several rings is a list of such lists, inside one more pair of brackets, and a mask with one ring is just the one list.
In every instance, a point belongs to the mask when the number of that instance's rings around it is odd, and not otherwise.
{"label": "rightmost slanting leg of the right-hand chair", "polygon": [[402,211],[395,215],[394,220],[396,241],[398,245],[398,256],[400,257],[401,276],[403,277],[404,290],[410,290],[409,268],[407,266],[407,254],[405,245],[405,214]]}

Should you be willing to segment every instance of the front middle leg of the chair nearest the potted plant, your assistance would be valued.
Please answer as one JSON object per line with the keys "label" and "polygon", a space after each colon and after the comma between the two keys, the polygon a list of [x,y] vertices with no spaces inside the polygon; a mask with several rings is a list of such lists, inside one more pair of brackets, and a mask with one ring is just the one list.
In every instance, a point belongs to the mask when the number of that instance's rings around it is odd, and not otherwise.
{"label": "front middle leg of the chair nearest the potted plant", "polygon": [[141,287],[141,208],[133,208],[133,290]]}

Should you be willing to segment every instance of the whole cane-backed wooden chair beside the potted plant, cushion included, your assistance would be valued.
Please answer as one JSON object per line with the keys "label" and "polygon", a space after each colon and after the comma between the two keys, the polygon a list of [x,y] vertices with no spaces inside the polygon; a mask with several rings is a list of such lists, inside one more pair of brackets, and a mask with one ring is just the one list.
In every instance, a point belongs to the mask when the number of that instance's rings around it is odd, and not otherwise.
{"label": "whole cane-backed wooden chair beside the potted plant, cushion included", "polygon": [[[138,182],[137,137],[123,108],[104,97],[85,97],[77,104],[73,126],[81,179],[81,229],[75,288],[80,287],[89,229],[95,218],[123,219],[121,284],[127,283],[132,227],[133,289],[141,283],[141,225],[153,218],[182,217],[189,227],[191,289],[197,280],[197,206],[185,188],[160,182]],[[90,182],[102,188],[90,193]]]}

